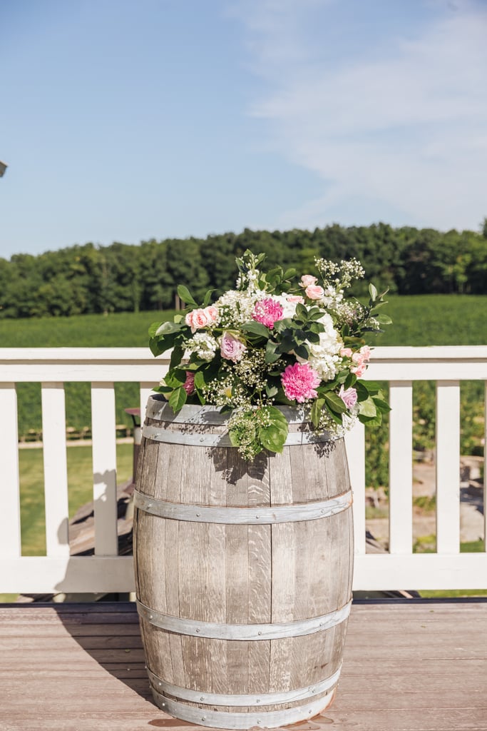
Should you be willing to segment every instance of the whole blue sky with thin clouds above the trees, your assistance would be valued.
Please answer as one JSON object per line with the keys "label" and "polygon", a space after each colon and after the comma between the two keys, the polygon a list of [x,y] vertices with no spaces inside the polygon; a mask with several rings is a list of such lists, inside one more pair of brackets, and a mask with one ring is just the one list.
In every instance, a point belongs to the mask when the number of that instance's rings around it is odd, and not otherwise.
{"label": "whole blue sky with thin clouds above the trees", "polygon": [[1,0],[0,256],[487,216],[487,0]]}

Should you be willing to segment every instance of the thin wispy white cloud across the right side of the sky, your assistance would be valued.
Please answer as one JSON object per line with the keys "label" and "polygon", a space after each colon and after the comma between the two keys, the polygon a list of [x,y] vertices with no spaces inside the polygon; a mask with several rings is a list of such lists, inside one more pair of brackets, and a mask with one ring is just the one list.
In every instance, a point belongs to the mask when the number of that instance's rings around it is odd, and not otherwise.
{"label": "thin wispy white cloud across the right side of the sky", "polygon": [[251,113],[268,122],[269,147],[323,179],[322,197],[272,224],[314,227],[332,211],[367,223],[349,205],[363,200],[370,220],[396,211],[394,224],[477,229],[487,214],[486,4],[436,3],[414,37],[396,29],[394,44],[372,38],[374,53],[362,46],[333,63],[305,23],[329,4],[243,2],[252,67],[269,90]]}

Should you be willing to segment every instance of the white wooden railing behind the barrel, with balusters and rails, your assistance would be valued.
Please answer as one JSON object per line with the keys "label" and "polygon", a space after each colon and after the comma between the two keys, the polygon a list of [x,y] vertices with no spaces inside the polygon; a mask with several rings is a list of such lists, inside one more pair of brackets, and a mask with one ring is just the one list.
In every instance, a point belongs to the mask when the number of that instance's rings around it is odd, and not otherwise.
{"label": "white wooden railing behind the barrel, with balusters and rails", "polygon": [[[114,382],[138,382],[142,413],[167,368],[142,348],[0,349],[0,592],[133,591],[132,559],[117,556]],[[390,553],[366,553],[364,429],[347,437],[354,491],[353,588],[487,588],[487,553],[459,553],[461,380],[487,384],[487,346],[383,347],[367,378],[388,381]],[[413,381],[437,383],[437,553],[413,553]],[[95,555],[69,556],[65,382],[91,383]],[[46,556],[22,556],[15,383],[41,382]],[[484,500],[485,504],[485,500]]]}

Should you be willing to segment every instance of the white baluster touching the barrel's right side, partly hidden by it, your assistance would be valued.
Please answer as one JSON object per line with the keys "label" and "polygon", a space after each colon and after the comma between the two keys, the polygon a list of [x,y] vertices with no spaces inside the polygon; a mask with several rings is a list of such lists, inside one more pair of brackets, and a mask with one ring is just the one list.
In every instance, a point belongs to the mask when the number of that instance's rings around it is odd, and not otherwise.
{"label": "white baluster touching the barrel's right side, partly hidden by it", "polygon": [[353,490],[355,553],[365,553],[365,430],[356,424],[345,435],[348,469]]}

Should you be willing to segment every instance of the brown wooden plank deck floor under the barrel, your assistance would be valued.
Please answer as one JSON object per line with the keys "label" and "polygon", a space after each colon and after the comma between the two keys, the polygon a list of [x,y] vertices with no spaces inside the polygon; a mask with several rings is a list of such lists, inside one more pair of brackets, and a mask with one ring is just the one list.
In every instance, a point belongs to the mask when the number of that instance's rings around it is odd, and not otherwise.
{"label": "brown wooden plank deck floor under the barrel", "polygon": [[[184,731],[150,700],[132,604],[1,605],[1,731]],[[353,605],[334,705],[294,730],[487,730],[487,601]]]}

